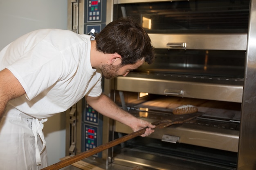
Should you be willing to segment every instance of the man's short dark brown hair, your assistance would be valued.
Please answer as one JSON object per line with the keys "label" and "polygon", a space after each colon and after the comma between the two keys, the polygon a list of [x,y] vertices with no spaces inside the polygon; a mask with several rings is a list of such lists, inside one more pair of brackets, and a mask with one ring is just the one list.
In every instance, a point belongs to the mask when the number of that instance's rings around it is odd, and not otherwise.
{"label": "man's short dark brown hair", "polygon": [[135,64],[145,58],[153,62],[155,51],[146,31],[131,18],[120,18],[110,22],[95,38],[97,50],[103,53],[118,53],[121,65]]}

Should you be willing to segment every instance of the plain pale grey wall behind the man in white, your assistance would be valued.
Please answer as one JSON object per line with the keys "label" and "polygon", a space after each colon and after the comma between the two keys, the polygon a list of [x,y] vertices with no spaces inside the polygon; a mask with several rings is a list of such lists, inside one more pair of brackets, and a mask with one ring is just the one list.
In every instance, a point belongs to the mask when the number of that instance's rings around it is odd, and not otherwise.
{"label": "plain pale grey wall behind the man in white", "polygon": [[[36,29],[67,29],[67,0],[0,0],[0,50]],[[49,165],[65,156],[65,115],[50,117],[43,130]]]}

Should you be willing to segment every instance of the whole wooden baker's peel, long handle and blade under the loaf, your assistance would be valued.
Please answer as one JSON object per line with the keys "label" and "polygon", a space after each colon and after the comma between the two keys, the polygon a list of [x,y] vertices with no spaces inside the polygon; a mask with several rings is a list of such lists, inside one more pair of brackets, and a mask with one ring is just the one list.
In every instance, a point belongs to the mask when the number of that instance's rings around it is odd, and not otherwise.
{"label": "whole wooden baker's peel, long handle and blade under the loaf", "polygon": [[[152,124],[156,126],[155,128],[165,128],[165,127],[171,126],[173,124],[182,124],[182,123],[192,120],[200,115],[202,115],[202,113],[199,113],[199,112],[186,114],[186,115],[170,115],[170,117],[168,117],[168,119],[159,120],[159,121],[153,122]],[[58,170],[58,169],[64,168],[65,166],[71,165],[72,163],[75,163],[77,161],[80,161],[82,159],[90,157],[94,154],[97,154],[97,153],[103,151],[103,150],[106,150],[108,148],[111,148],[113,146],[121,144],[121,143],[128,141],[132,138],[135,138],[137,136],[143,135],[145,133],[145,131],[146,131],[146,128],[143,128],[136,132],[132,132],[128,135],[125,135],[123,137],[120,137],[118,139],[110,141],[101,146],[97,146],[96,148],[92,148],[88,151],[82,152],[78,155],[75,155],[75,156],[65,159],[63,161],[60,161],[58,163],[55,163],[55,164],[48,166],[46,168],[43,168],[41,170]]]}

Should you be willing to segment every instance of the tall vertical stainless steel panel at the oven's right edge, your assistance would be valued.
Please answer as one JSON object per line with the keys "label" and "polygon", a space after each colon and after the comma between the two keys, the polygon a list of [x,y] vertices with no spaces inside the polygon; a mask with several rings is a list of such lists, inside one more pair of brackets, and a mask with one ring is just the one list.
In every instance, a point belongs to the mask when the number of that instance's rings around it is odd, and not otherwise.
{"label": "tall vertical stainless steel panel at the oven's right edge", "polygon": [[256,169],[256,0],[251,1],[250,8],[238,170]]}

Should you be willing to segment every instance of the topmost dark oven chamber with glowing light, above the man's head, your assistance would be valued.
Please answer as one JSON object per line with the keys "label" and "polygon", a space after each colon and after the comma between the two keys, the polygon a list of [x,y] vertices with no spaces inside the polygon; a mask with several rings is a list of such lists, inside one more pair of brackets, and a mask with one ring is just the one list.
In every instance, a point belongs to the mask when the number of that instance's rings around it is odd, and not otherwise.
{"label": "topmost dark oven chamber with glowing light, above the man's head", "polygon": [[148,33],[247,33],[249,4],[249,0],[117,3],[113,19],[135,18]]}

